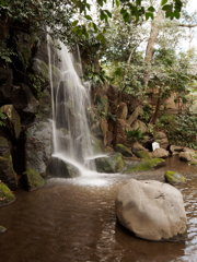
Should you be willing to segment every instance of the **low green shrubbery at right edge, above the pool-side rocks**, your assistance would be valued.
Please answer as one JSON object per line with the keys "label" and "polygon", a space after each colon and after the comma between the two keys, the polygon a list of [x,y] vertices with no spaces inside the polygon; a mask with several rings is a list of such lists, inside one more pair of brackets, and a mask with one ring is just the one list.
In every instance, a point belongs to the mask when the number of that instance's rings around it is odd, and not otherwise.
{"label": "low green shrubbery at right edge, above the pool-side rocks", "polygon": [[184,145],[197,148],[197,116],[187,115],[164,115],[157,122],[157,128],[163,129],[169,138],[170,144]]}

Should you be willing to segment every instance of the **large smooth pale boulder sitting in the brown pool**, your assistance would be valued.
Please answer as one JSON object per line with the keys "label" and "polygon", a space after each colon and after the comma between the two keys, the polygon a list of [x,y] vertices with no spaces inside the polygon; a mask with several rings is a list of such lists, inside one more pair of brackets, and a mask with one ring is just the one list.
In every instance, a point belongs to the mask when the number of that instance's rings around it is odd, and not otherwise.
{"label": "large smooth pale boulder sitting in the brown pool", "polygon": [[116,196],[116,214],[137,237],[161,240],[186,231],[182,193],[159,181],[130,179]]}

